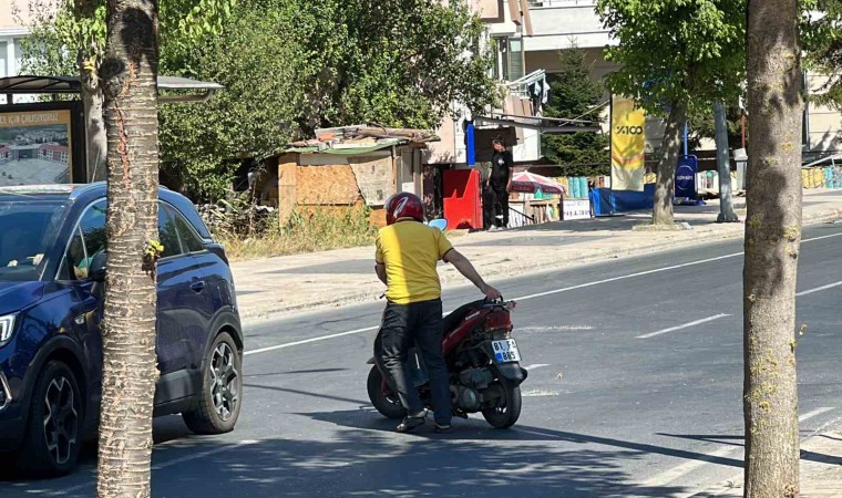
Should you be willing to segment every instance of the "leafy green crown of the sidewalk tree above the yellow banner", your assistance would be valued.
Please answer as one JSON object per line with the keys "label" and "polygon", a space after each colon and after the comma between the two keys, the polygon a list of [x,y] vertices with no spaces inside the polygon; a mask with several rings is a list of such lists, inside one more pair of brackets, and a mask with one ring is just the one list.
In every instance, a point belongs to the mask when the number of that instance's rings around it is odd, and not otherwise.
{"label": "leafy green crown of the sidewalk tree above the yellow banner", "polygon": [[608,89],[648,113],[685,102],[692,114],[740,93],[746,66],[746,0],[598,0],[619,65]]}

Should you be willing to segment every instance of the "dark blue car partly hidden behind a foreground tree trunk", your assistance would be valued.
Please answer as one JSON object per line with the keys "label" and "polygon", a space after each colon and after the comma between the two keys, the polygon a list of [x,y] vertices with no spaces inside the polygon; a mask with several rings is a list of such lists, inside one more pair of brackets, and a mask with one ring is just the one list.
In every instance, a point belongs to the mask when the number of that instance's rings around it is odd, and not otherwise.
{"label": "dark blue car partly hidden behind a foreground tree trunk", "polygon": [[[158,195],[155,415],[234,428],[243,332],[222,246],[195,207]],[[105,185],[0,187],[0,453],[62,475],[95,438],[102,393]]]}

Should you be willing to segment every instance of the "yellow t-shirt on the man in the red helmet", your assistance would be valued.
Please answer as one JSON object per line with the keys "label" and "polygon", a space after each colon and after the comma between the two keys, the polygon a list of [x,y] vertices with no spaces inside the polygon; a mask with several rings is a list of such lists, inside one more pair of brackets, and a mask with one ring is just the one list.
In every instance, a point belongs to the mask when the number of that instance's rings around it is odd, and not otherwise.
{"label": "yellow t-shirt on the man in the red helmet", "polygon": [[378,263],[386,264],[386,297],[397,304],[441,298],[437,263],[453,249],[437,228],[418,221],[400,221],[380,229]]}

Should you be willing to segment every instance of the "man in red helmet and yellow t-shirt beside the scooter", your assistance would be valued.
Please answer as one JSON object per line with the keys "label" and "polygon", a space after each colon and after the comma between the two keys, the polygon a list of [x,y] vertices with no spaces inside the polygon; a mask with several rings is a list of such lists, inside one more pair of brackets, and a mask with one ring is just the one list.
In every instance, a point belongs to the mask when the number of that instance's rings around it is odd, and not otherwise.
{"label": "man in red helmet and yellow t-shirt beside the scooter", "polygon": [[451,393],[448,366],[442,354],[441,282],[439,260],[453,264],[491,300],[500,292],[483,281],[473,264],[453,249],[444,234],[424,225],[423,205],[418,196],[401,193],[386,203],[387,226],[377,238],[378,278],[387,286],[389,301],[374,342],[374,357],[389,387],[400,397],[407,416],[397,430],[404,433],[423,425],[427,408],[409,381],[405,362],[418,344],[427,366],[433,398],[435,430],[451,430]]}

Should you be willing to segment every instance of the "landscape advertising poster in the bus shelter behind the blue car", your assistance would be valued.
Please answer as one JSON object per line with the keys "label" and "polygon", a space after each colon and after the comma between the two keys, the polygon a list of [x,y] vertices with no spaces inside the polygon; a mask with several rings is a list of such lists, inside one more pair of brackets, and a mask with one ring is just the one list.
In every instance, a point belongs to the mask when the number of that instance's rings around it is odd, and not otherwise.
{"label": "landscape advertising poster in the bus shelter behind the blue car", "polygon": [[0,186],[71,181],[71,112],[0,113]]}

